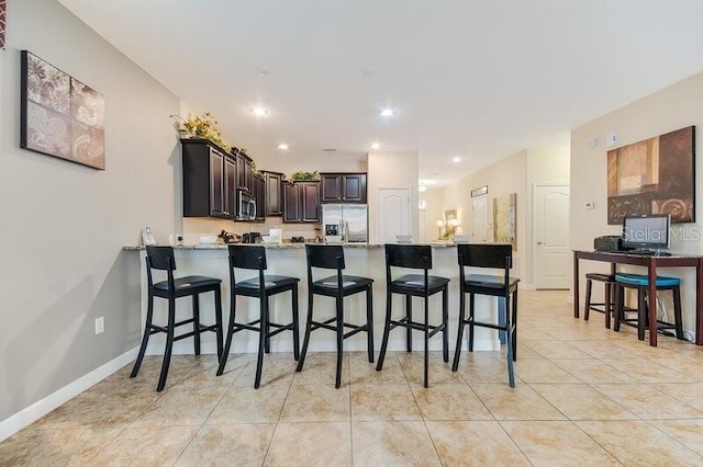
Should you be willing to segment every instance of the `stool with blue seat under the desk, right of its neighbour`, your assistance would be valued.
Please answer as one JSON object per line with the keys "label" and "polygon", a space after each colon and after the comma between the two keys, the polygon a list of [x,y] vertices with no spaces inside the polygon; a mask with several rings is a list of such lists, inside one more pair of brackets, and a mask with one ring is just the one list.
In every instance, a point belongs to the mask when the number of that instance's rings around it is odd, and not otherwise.
{"label": "stool with blue seat under the desk, right of its neighbour", "polygon": [[[673,329],[677,339],[684,339],[683,324],[681,320],[681,280],[679,277],[665,277],[657,276],[656,286],[659,291],[671,291],[673,294],[673,320],[674,322],[667,322],[657,320],[657,329],[666,330]],[[625,288],[634,288],[637,291],[637,318],[631,319],[625,317],[624,301],[625,301]],[[615,274],[615,323],[613,324],[614,331],[620,331],[620,324],[634,326],[637,328],[637,339],[645,340],[645,329],[649,324],[649,307],[647,306],[647,299],[652,299],[648,296],[649,277],[639,274]],[[657,298],[654,297],[656,300]]]}

